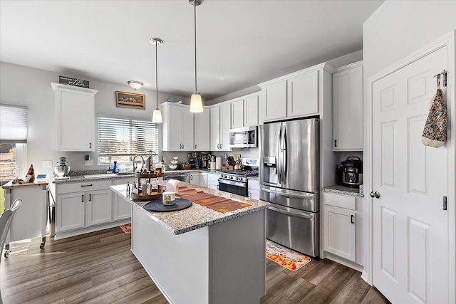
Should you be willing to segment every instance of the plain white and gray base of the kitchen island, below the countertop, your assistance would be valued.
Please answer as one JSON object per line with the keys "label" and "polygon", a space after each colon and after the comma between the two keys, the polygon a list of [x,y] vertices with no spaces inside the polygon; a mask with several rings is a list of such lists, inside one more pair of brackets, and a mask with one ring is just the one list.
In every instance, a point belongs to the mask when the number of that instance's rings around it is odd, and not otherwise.
{"label": "plain white and gray base of the kitchen island, below the countertop", "polygon": [[132,251],[170,303],[259,303],[264,210],[174,235],[133,207]]}

